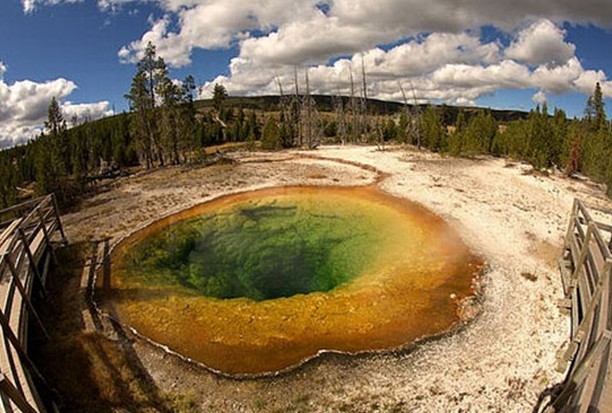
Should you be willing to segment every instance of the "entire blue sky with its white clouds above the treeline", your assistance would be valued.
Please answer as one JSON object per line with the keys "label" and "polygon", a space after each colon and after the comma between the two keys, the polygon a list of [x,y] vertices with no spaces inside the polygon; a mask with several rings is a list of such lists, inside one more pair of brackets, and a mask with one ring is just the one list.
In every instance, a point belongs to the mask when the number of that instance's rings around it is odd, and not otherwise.
{"label": "entire blue sky with its white clouds above the treeline", "polygon": [[363,60],[369,96],[582,114],[601,82],[612,114],[608,0],[2,0],[0,147],[41,130],[51,97],[67,118],[125,110],[148,41],[207,97],[277,93],[308,71],[348,93]]}

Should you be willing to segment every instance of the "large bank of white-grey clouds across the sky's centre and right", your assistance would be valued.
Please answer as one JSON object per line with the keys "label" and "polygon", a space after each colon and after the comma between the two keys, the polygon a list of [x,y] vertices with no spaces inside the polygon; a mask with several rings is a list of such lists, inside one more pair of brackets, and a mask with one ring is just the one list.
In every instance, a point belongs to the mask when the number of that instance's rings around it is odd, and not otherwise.
{"label": "large bank of white-grey clouds across the sky's centre and right", "polygon": [[[23,0],[52,4],[62,0]],[[76,0],[66,0],[76,1]],[[231,94],[278,93],[308,70],[314,93],[359,89],[361,64],[368,95],[402,100],[398,83],[419,101],[473,103],[502,89],[537,91],[534,99],[565,92],[590,94],[596,82],[612,97],[612,82],[588,70],[564,27],[612,28],[610,0],[97,0],[104,11],[155,4],[159,18],[118,51],[134,63],[148,42],[174,67],[194,50],[236,47],[228,74],[215,83]],[[485,41],[490,25],[512,40]],[[358,91],[359,92],[359,91]]]}

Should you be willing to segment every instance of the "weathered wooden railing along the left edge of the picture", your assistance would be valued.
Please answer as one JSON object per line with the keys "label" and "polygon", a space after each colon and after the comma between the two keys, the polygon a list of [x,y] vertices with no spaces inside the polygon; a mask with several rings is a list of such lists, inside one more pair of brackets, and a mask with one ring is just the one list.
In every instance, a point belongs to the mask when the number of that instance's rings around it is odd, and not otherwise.
{"label": "weathered wooden railing along the left edge of the picture", "polygon": [[46,294],[52,237],[66,237],[53,195],[0,211],[0,412],[44,413],[33,383],[47,386],[28,356],[29,321],[48,333],[32,304],[36,291]]}

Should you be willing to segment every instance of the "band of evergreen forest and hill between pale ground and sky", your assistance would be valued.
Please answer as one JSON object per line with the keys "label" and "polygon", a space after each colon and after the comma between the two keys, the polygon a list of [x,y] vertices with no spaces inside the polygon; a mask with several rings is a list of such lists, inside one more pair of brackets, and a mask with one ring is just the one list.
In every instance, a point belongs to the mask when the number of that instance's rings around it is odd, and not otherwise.
{"label": "band of evergreen forest and hill between pale ground and sky", "polygon": [[129,113],[68,128],[52,99],[45,133],[0,152],[0,208],[51,192],[70,205],[99,179],[128,168],[207,163],[204,149],[225,143],[273,150],[395,142],[452,156],[490,154],[583,173],[612,196],[612,122],[599,84],[584,118],[573,120],[545,104],[525,113],[360,97],[229,97],[222,85],[213,99],[195,101],[195,89],[191,76],[171,81],[149,46],[126,94]]}

